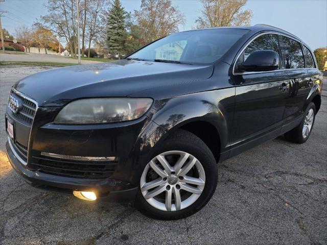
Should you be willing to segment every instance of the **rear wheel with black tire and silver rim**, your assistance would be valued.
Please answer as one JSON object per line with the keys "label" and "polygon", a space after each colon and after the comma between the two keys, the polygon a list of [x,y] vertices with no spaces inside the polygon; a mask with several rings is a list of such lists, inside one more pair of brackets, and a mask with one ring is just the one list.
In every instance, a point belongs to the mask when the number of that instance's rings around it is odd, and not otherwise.
{"label": "rear wheel with black tire and silver rim", "polygon": [[[312,119],[308,120],[308,114],[312,112]],[[287,132],[284,134],[285,138],[288,141],[294,142],[294,143],[298,143],[298,144],[302,144],[305,143],[308,138],[310,137],[310,134],[312,132],[313,129],[313,125],[315,122],[315,118],[316,118],[316,107],[314,103],[310,103],[305,111],[305,113],[303,113],[303,118],[300,122],[300,124],[292,129],[291,131]],[[305,130],[305,125],[307,125],[307,133],[304,133],[303,130]],[[310,127],[308,125],[311,125]],[[308,128],[309,127],[309,128]]]}

